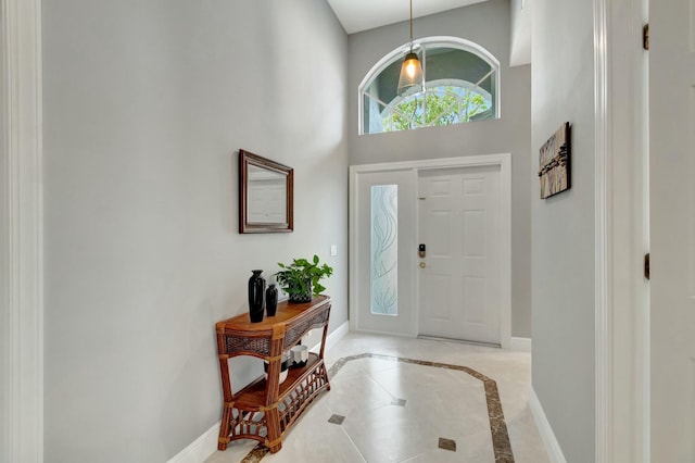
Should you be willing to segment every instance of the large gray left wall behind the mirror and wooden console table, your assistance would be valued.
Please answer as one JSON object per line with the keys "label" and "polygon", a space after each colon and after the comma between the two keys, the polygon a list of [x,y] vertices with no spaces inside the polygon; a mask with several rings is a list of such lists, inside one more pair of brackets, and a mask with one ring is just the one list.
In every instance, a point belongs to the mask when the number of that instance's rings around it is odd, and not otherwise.
{"label": "large gray left wall behind the mirror and wooden console table", "polygon": [[[346,320],[346,55],[324,0],[43,3],[47,462],[161,462],[218,421],[251,268],[318,253]],[[237,233],[239,148],[295,168],[293,234]]]}

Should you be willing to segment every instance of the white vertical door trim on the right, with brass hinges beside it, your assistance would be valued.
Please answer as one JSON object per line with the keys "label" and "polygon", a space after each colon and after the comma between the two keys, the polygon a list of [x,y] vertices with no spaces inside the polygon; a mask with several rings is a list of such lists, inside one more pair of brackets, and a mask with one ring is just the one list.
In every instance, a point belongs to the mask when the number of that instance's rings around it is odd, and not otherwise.
{"label": "white vertical door trim on the right, with brass hinges beside it", "polygon": [[647,462],[646,0],[594,0],[595,461]]}

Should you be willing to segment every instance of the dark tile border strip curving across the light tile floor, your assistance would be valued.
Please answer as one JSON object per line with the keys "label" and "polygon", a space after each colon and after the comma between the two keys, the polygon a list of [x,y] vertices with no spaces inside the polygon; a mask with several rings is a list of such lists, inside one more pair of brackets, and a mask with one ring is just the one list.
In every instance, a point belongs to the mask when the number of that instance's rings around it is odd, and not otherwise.
{"label": "dark tile border strip curving across the light tile floor", "polygon": [[[451,365],[448,363],[429,362],[426,360],[405,359],[402,356],[383,355],[380,353],[367,352],[338,359],[336,363],[333,363],[333,365],[330,367],[330,370],[328,370],[329,380],[332,379],[333,376],[336,376],[348,362],[359,359],[379,359],[389,362],[410,363],[414,365],[433,366],[435,368],[456,370],[458,372],[465,372],[473,378],[481,380],[485,388],[488,418],[490,420],[490,433],[492,434],[492,449],[495,454],[495,463],[515,463],[514,453],[511,452],[511,442],[509,441],[509,434],[507,433],[507,424],[504,421],[504,412],[502,411],[502,401],[500,400],[497,383],[495,383],[494,379],[491,379],[482,373],[476,372],[468,366]],[[454,445],[455,443],[456,442],[454,442]],[[252,458],[253,453],[260,454],[260,450],[265,450],[265,452],[261,454],[257,460],[248,460],[249,458]],[[267,452],[268,449],[260,443],[241,461],[241,463],[258,462],[263,456],[265,456]]]}

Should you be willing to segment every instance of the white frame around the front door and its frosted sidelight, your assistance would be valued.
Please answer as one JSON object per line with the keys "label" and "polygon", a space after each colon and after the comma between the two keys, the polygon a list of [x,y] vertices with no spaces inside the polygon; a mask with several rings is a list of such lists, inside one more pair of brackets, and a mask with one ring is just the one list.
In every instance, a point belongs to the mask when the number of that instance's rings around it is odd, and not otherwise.
{"label": "white frame around the front door and its frosted sidelight", "polygon": [[[477,167],[477,166],[498,166],[501,180],[501,313],[500,313],[500,341],[503,349],[509,349],[511,343],[511,154],[483,154],[460,158],[445,158],[420,161],[401,161],[379,164],[361,164],[350,166],[350,329],[357,330],[357,245],[359,237],[358,214],[357,214],[357,185],[358,176],[363,173],[388,172],[388,171],[410,171],[417,180],[419,171],[440,170],[440,168],[458,168],[458,167]],[[417,184],[416,184],[417,185]],[[417,198],[413,198],[417,211]],[[417,215],[416,215],[417,216]],[[417,235],[416,235],[417,241]],[[405,246],[408,246],[407,243]],[[415,250],[417,242],[409,246]],[[415,251],[413,253],[415,255]],[[413,280],[417,281],[417,266],[415,260],[410,263],[413,272]],[[414,285],[410,297],[417,300],[418,285]],[[416,305],[417,306],[417,305]],[[413,311],[413,333],[405,336],[417,336],[418,334],[418,316],[419,311]]]}

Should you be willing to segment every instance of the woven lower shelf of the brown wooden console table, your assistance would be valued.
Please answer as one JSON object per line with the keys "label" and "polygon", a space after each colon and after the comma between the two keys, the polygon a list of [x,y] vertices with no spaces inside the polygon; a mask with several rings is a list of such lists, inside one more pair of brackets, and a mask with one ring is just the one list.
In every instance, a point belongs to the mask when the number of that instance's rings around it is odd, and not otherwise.
{"label": "woven lower shelf of the brown wooden console table", "polygon": [[[237,439],[255,439],[271,452],[279,450],[279,440],[308,404],[324,389],[330,390],[324,360],[309,353],[304,367],[291,367],[279,387],[278,401],[266,405],[266,380],[261,377],[239,391],[231,403],[226,403],[219,429],[219,450]],[[268,441],[268,428],[279,437]],[[277,435],[271,433],[273,435]]]}

